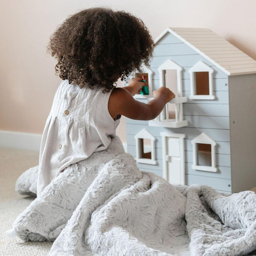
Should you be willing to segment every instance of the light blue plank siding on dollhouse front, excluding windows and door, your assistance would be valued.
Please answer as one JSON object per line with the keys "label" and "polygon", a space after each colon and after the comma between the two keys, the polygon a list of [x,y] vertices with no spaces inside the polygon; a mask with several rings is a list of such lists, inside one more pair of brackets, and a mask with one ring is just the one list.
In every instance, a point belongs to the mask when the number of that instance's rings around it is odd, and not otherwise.
{"label": "light blue plank siding on dollhouse front, excluding windows and door", "polygon": [[[166,34],[154,48],[154,57],[151,61],[153,74],[153,90],[159,88],[159,73],[157,68],[166,60],[172,59],[183,67],[182,88],[183,96],[188,97],[188,102],[183,104],[184,119],[189,125],[182,128],[164,128],[148,126],[148,121],[126,119],[128,153],[136,157],[134,135],[146,128],[156,137],[157,165],[138,163],[140,170],[154,172],[163,176],[162,140],[160,132],[173,132],[186,134],[185,142],[185,173],[186,184],[206,184],[222,192],[231,192],[230,169],[230,118],[228,97],[228,76],[218,67],[202,57],[198,52],[184,44],[174,35]],[[213,91],[215,100],[192,100],[190,95],[189,69],[198,61],[204,61],[214,69]],[[147,100],[140,100],[146,103]],[[203,172],[191,168],[192,144],[191,140],[205,132],[217,142],[216,165],[218,172]]]}

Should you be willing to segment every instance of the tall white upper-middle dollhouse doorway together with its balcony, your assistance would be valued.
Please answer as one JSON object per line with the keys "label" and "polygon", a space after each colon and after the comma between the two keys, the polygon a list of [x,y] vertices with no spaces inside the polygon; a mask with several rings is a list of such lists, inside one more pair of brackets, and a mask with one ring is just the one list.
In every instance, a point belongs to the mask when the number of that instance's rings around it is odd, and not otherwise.
{"label": "tall white upper-middle dollhouse doorway together with its balcony", "polygon": [[183,103],[187,97],[182,96],[182,70],[177,63],[168,59],[158,69],[159,85],[169,88],[175,93],[175,99],[168,102],[163,111],[154,120],[149,121],[150,126],[169,128],[180,128],[187,126],[188,122],[183,120]]}

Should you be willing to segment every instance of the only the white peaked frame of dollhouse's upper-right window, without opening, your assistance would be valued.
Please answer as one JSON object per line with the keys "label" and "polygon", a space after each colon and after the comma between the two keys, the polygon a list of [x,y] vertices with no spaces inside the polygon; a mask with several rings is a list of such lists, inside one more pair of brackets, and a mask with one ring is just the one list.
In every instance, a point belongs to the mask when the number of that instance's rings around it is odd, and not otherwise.
{"label": "only the white peaked frame of dollhouse's upper-right window, without opening", "polygon": [[[209,72],[209,95],[196,95],[195,94],[195,72]],[[214,70],[205,64],[203,61],[198,61],[191,69],[189,69],[190,74],[190,96],[189,99],[215,99],[215,95],[213,95],[213,74]]]}

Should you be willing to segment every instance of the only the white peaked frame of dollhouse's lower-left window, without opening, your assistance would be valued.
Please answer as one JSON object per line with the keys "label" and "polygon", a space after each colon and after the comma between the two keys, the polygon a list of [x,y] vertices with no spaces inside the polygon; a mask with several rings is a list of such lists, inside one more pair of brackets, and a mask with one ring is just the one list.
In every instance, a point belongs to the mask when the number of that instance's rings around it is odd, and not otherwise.
{"label": "only the white peaked frame of dollhouse's lower-left window, without opening", "polygon": [[[140,132],[138,132],[135,136],[135,145],[136,145],[136,160],[138,163],[146,163],[146,164],[157,164],[156,161],[156,149],[155,149],[155,141],[156,137],[154,137],[149,131],[146,129],[142,129]],[[151,159],[148,158],[141,158],[140,157],[140,139],[149,139],[151,140]]]}

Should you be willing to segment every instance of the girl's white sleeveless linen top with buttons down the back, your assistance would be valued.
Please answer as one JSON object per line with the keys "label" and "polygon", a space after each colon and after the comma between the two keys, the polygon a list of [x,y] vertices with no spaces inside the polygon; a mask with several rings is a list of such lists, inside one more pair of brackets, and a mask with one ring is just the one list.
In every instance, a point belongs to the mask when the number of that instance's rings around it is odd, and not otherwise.
{"label": "girl's white sleeveless linen top with buttons down the back", "polygon": [[104,150],[119,124],[108,112],[113,89],[95,85],[79,88],[64,80],[59,85],[47,118],[40,146],[37,194],[67,166]]}

